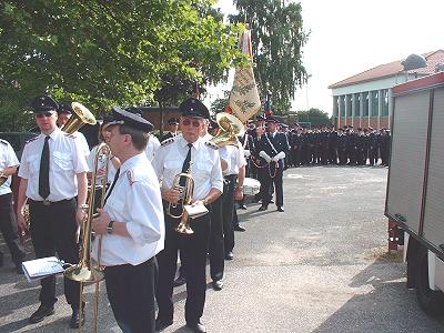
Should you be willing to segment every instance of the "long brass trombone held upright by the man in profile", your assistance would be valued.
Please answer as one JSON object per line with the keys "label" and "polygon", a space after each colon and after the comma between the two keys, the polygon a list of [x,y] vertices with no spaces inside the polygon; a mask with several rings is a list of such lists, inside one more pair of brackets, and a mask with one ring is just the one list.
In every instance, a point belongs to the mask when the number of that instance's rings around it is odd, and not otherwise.
{"label": "long brass trombone held upright by the man in profile", "polygon": [[[109,145],[104,142],[100,143],[94,155],[94,168],[91,176],[91,191],[88,195],[88,203],[84,209],[88,210],[85,220],[82,226],[82,244],[80,250],[80,259],[77,265],[72,265],[64,271],[64,276],[67,279],[80,282],[80,302],[79,302],[79,314],[82,315],[83,311],[81,309],[83,304],[83,284],[95,283],[95,295],[94,295],[94,315],[93,315],[93,332],[97,332],[97,322],[99,313],[99,282],[104,279],[100,258],[101,258],[101,245],[102,238],[98,239],[98,262],[97,266],[92,265],[91,261],[91,235],[92,235],[92,219],[94,218],[95,208],[95,181],[98,179],[99,171],[99,159],[105,155],[107,161],[110,161],[111,150]],[[104,175],[101,179],[102,193],[100,196],[99,208],[103,208],[105,198],[105,186],[107,186],[107,174],[108,174],[108,162],[104,171]],[[79,331],[82,330],[82,325],[79,326]]]}

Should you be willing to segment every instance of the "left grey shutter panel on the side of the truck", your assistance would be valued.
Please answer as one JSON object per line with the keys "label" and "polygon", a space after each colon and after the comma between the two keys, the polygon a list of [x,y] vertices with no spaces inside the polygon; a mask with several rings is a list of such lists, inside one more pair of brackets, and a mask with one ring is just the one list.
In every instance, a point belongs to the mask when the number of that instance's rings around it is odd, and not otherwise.
{"label": "left grey shutter panel on the side of the truck", "polygon": [[[386,214],[404,222],[417,234],[424,183],[430,91],[400,95],[394,107]],[[393,170],[396,172],[392,172]]]}

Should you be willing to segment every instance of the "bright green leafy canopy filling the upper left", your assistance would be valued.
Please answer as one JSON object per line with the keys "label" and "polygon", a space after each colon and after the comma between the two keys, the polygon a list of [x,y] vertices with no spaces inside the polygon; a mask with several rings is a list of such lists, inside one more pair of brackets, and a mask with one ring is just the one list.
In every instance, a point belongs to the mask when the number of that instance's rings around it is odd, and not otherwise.
{"label": "bright green leafy canopy filling the upper left", "polygon": [[47,92],[98,113],[153,102],[170,81],[223,80],[245,62],[242,26],[224,24],[212,2],[2,1],[0,111],[21,112]]}

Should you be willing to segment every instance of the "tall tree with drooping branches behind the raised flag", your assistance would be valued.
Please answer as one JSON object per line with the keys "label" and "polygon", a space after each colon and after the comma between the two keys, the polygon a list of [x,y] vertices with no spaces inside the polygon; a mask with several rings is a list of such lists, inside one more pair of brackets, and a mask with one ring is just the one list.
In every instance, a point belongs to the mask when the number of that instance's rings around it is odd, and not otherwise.
{"label": "tall tree with drooping branches behind the raised flag", "polygon": [[301,3],[282,0],[234,0],[239,14],[232,21],[252,29],[254,74],[262,95],[273,93],[273,112],[286,113],[297,85],[305,82],[302,48],[307,33],[302,27]]}

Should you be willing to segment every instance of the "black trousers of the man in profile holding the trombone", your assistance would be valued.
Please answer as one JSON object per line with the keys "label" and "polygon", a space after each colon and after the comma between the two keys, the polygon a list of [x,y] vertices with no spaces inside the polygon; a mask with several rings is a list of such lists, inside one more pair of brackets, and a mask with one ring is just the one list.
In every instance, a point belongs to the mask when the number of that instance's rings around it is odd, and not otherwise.
{"label": "black trousers of the man in profile holding the trombone", "polygon": [[104,270],[108,300],[124,333],[154,333],[155,258],[139,265],[108,266]]}

